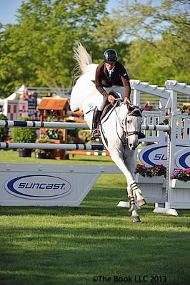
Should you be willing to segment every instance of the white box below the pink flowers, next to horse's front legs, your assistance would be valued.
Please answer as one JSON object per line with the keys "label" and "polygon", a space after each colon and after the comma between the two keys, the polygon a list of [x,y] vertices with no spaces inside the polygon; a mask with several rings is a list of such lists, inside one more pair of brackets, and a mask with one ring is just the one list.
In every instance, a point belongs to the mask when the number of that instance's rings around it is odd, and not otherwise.
{"label": "white box below the pink flowers, next to horse's front legs", "polygon": [[136,175],[136,182],[147,203],[165,202],[166,187],[164,175],[154,177]]}

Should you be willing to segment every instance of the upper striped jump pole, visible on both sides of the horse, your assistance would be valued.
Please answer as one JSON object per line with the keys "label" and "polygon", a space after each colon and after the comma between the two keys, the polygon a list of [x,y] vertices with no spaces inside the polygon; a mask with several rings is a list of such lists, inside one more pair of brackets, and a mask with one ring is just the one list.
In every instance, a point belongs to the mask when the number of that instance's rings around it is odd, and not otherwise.
{"label": "upper striped jump pole, visible on both sides of the horse", "polygon": [[[65,123],[65,122],[39,122],[39,121],[18,121],[0,120],[0,128],[59,128],[59,129],[89,129],[86,123]],[[170,131],[169,125],[141,125],[141,130],[162,130]]]}

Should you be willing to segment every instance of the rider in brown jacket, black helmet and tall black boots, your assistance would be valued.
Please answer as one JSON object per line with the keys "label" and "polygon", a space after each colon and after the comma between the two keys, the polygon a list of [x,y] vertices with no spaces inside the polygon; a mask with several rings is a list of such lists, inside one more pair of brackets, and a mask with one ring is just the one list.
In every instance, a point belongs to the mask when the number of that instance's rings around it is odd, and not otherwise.
{"label": "rider in brown jacket, black helmet and tall black boots", "polygon": [[104,62],[97,66],[96,80],[93,82],[96,84],[98,92],[92,121],[91,139],[99,138],[97,125],[106,100],[109,103],[114,103],[114,96],[110,95],[110,92],[114,92],[120,98],[124,98],[124,103],[131,103],[129,76],[124,66],[117,61],[117,53],[113,49],[107,49],[104,52]]}

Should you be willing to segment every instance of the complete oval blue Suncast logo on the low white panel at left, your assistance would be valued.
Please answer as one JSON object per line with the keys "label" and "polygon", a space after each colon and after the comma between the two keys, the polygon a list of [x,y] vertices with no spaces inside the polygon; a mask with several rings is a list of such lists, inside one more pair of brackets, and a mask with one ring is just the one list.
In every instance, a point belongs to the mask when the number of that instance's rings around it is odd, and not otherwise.
{"label": "complete oval blue Suncast logo on the low white panel at left", "polygon": [[5,182],[7,192],[26,199],[55,199],[71,192],[71,185],[61,177],[24,175]]}

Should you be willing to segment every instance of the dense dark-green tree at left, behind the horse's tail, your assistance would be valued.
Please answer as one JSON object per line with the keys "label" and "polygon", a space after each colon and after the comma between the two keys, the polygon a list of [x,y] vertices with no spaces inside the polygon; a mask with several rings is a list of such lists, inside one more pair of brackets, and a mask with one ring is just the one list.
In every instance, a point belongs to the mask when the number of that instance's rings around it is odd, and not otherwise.
{"label": "dense dark-green tree at left, behind the horse's tail", "polygon": [[[108,0],[28,0],[17,12],[16,25],[2,28],[1,94],[26,86],[69,87],[75,41],[93,45]],[[8,83],[8,87],[6,87]],[[9,94],[7,94],[9,95]]]}

